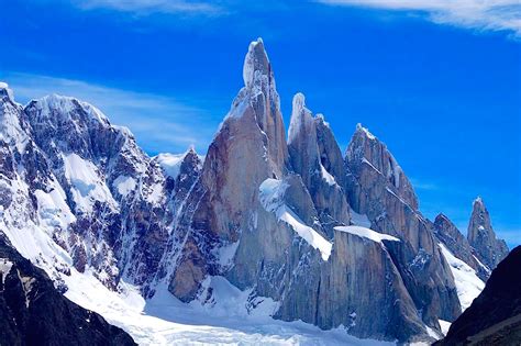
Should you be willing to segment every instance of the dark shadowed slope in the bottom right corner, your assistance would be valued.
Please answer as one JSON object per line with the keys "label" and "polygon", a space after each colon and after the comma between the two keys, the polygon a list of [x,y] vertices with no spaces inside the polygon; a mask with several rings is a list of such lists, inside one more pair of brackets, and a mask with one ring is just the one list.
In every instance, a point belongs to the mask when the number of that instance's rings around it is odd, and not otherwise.
{"label": "dark shadowed slope in the bottom right corner", "polygon": [[451,326],[439,345],[521,343],[521,246],[492,271],[481,294]]}

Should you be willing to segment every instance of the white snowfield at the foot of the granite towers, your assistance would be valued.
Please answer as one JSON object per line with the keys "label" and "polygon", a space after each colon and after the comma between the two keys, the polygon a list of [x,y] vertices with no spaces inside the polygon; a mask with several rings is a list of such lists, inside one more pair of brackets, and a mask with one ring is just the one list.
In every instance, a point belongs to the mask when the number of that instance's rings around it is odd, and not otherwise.
{"label": "white snowfield at the foot of the granite towers", "polygon": [[358,339],[342,327],[322,331],[300,321],[274,320],[276,302],[255,298],[252,304],[250,290],[241,291],[222,277],[204,281],[203,293],[212,290],[208,301],[189,304],[171,295],[166,286],[145,301],[135,287],[123,282],[120,292],[112,292],[89,271],[73,269],[65,280],[68,299],[122,327],[140,345],[393,345]]}

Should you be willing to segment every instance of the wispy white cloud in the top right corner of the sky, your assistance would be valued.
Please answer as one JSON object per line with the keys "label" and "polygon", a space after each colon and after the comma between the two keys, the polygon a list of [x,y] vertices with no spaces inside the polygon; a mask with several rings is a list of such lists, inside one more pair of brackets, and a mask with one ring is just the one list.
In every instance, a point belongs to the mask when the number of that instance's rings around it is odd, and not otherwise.
{"label": "wispy white cloud in the top right corner of the sky", "polygon": [[318,0],[332,5],[421,11],[435,23],[477,30],[507,30],[521,36],[519,0]]}

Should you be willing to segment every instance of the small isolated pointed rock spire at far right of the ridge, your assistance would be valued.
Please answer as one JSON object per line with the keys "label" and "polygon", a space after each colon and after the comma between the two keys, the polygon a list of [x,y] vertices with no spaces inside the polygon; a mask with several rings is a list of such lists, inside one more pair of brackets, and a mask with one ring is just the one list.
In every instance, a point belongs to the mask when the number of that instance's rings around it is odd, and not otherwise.
{"label": "small isolated pointed rock spire at far right of the ridge", "polygon": [[468,243],[476,249],[476,257],[488,268],[494,269],[508,255],[505,241],[496,238],[490,215],[481,198],[473,204],[473,214],[468,223]]}

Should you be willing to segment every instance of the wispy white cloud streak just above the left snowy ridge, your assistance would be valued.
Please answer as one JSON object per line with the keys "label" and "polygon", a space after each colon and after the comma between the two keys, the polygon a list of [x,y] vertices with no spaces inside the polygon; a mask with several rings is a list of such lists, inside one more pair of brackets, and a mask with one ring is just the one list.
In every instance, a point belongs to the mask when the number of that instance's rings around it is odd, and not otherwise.
{"label": "wispy white cloud streak just above the left snowy ridge", "polygon": [[92,103],[113,124],[129,127],[149,153],[182,152],[190,145],[203,153],[220,121],[219,116],[211,116],[209,110],[167,96],[40,75],[11,72],[1,78],[22,103],[49,93]]}

